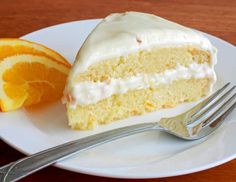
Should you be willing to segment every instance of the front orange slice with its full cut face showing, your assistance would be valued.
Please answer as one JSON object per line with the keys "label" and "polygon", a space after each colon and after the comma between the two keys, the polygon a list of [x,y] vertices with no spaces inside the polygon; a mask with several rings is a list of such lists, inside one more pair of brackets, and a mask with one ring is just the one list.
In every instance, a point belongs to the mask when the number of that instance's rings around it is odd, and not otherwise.
{"label": "front orange slice with its full cut face showing", "polygon": [[61,98],[70,66],[45,56],[20,54],[0,60],[0,106],[11,111]]}

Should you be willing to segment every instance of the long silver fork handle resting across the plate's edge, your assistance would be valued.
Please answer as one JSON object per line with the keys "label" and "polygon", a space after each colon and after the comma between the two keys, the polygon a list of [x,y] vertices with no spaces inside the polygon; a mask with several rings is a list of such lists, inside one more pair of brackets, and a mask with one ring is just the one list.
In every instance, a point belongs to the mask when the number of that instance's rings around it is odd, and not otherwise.
{"label": "long silver fork handle resting across the plate's edge", "polygon": [[80,151],[152,129],[161,130],[162,128],[158,123],[136,124],[99,133],[38,152],[0,167],[0,181],[7,182],[21,179]]}

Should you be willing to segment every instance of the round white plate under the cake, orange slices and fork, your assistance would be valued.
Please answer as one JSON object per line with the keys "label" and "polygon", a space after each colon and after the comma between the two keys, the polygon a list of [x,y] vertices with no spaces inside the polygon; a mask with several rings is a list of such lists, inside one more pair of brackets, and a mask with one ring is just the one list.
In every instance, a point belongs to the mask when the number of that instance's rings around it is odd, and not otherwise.
{"label": "round white plate under the cake, orange slices and fork", "polygon": [[[88,33],[99,20],[85,20],[48,27],[22,38],[42,43],[73,62]],[[236,83],[236,48],[211,35],[206,36],[219,50],[218,82]],[[192,104],[133,117],[102,126],[96,131],[73,131],[67,126],[65,108],[53,104],[28,112],[24,109],[0,114],[0,136],[17,150],[32,154],[93,133],[133,123],[158,121],[183,112]],[[119,177],[156,178],[208,169],[236,156],[236,112],[206,141],[186,142],[162,132],[146,132],[82,152],[56,166],[80,173]]]}

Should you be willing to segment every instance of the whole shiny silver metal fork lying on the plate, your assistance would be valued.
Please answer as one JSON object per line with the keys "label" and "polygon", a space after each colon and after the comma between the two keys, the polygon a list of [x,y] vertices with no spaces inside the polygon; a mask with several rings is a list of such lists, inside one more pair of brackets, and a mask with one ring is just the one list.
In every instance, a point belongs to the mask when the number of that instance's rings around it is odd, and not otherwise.
{"label": "whole shiny silver metal fork lying on the plate", "polygon": [[235,86],[230,89],[229,86],[227,83],[195,107],[175,117],[99,133],[12,162],[0,168],[0,181],[16,181],[78,152],[140,132],[161,130],[184,140],[209,136],[236,106]]}

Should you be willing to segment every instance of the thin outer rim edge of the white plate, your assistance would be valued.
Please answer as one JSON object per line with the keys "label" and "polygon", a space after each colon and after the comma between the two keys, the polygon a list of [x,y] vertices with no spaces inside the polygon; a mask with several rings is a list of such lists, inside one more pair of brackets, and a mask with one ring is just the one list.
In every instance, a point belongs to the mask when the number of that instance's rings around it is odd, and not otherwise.
{"label": "thin outer rim edge of the white plate", "polygon": [[[46,29],[51,29],[51,28],[54,28],[54,27],[64,26],[64,25],[67,25],[67,24],[81,23],[81,22],[96,22],[96,23],[98,23],[101,20],[102,19],[83,19],[83,20],[76,20],[76,21],[70,21],[70,22],[55,24],[55,25],[51,25],[51,26],[44,27],[44,28],[35,30],[33,32],[27,33],[23,36],[20,36],[19,38],[25,39],[24,37],[29,36],[31,34],[34,34],[34,33],[37,33],[37,32],[40,32],[40,31],[43,31],[43,30],[46,30]],[[214,35],[211,35],[211,34],[208,34],[208,33],[205,33],[205,32],[202,32],[202,33],[207,34],[210,37],[214,37],[215,39],[218,39],[219,41],[224,42],[225,44],[227,44],[228,46],[231,46],[232,48],[236,48],[236,46],[234,44],[232,44],[230,42],[227,42],[224,39],[221,39],[219,37],[216,37]],[[26,40],[28,40],[28,39],[26,38]],[[13,142],[8,141],[1,134],[0,134],[0,139],[3,142],[5,142],[6,144],[8,144],[10,147],[12,147],[12,148],[16,149],[17,151],[25,154],[26,156],[31,155],[31,153],[28,153],[24,149],[17,147]],[[98,172],[98,171],[94,170],[93,168],[92,169],[89,169],[89,168],[85,169],[83,167],[81,169],[75,169],[73,167],[69,167],[65,164],[61,164],[61,163],[58,163],[58,162],[53,164],[52,166],[55,166],[55,167],[58,167],[58,168],[61,168],[61,169],[64,169],[64,170],[76,172],[76,173],[82,173],[82,174],[88,174],[88,175],[100,176],[100,177],[122,178],[122,179],[148,179],[148,178],[150,179],[150,178],[173,177],[173,176],[180,176],[180,175],[186,175],[186,174],[191,174],[191,173],[195,173],[195,172],[200,172],[200,171],[203,171],[203,170],[207,170],[207,169],[219,166],[219,165],[224,164],[228,161],[231,161],[235,158],[236,158],[236,153],[229,156],[229,157],[227,157],[227,158],[224,158],[222,160],[218,160],[218,161],[209,163],[208,165],[193,167],[190,170],[179,170],[179,171],[177,170],[175,173],[171,172],[171,174],[170,174],[170,172],[169,173],[168,172],[167,173],[158,173],[159,175],[155,175],[155,176],[150,175],[150,174],[148,176],[147,175],[133,175],[133,174],[130,174],[129,176],[125,176],[125,175],[121,175],[120,173],[119,174],[117,174],[117,173],[111,174],[110,172],[108,172],[108,173],[101,172],[101,171]]]}

